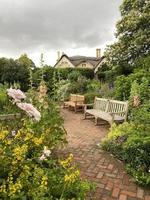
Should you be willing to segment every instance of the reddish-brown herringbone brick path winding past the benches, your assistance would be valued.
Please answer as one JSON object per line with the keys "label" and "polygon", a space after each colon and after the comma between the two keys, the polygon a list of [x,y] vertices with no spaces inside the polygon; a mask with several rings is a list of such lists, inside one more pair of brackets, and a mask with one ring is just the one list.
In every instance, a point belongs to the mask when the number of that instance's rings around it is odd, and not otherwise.
{"label": "reddish-brown herringbone brick path winding past the benches", "polygon": [[97,143],[107,134],[108,127],[95,126],[83,120],[82,114],[62,110],[68,132],[64,153],[73,153],[81,175],[97,185],[91,200],[150,200],[150,190],[137,186],[126,174],[123,164],[100,150]]}

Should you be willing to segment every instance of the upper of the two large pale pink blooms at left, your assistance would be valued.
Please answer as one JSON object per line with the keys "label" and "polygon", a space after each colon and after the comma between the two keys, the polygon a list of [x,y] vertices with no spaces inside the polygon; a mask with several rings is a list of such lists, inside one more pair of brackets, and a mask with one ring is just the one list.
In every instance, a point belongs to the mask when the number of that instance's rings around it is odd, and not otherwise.
{"label": "upper of the two large pale pink blooms at left", "polygon": [[25,94],[19,89],[17,89],[17,90],[12,89],[12,88],[7,89],[7,94],[8,94],[8,96],[12,97],[15,102],[20,102],[21,99],[26,98]]}

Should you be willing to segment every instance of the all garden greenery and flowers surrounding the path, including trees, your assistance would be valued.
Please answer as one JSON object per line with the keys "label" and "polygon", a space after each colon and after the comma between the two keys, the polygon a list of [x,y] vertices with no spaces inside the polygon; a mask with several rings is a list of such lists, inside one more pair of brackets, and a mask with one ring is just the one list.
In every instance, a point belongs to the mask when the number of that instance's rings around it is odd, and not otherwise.
{"label": "all garden greenery and flowers surrounding the path, including trees", "polygon": [[[113,124],[99,142],[122,161],[137,185],[150,188],[149,1],[125,0],[117,23],[118,41],[106,62],[92,69],[36,67],[26,54],[0,58],[0,199],[84,200],[94,191],[83,180],[67,145],[60,106],[70,94],[128,101],[127,121]],[[139,15],[137,15],[137,13]],[[136,20],[135,20],[135,15]]]}

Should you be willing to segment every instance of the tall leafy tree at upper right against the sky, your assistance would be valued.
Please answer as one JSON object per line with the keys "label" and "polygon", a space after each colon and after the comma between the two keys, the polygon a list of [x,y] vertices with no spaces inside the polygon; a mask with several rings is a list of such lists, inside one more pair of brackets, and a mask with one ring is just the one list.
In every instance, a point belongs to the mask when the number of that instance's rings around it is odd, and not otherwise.
{"label": "tall leafy tree at upper right against the sky", "polygon": [[124,0],[120,12],[118,40],[108,46],[105,55],[111,66],[130,73],[137,58],[150,54],[150,1]]}

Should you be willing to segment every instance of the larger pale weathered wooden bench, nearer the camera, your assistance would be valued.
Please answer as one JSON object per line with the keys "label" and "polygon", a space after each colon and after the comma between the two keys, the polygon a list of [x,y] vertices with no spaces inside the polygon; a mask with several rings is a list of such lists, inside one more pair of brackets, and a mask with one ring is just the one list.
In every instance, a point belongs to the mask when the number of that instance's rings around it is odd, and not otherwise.
{"label": "larger pale weathered wooden bench, nearer the camera", "polygon": [[[92,107],[91,109],[88,107]],[[95,124],[98,119],[107,121],[110,125],[114,122],[126,121],[128,113],[128,102],[109,100],[95,97],[94,104],[87,104],[84,108],[84,118],[93,116]]]}

